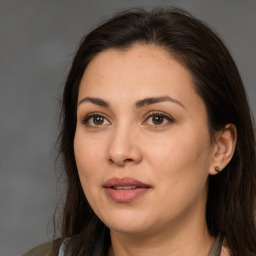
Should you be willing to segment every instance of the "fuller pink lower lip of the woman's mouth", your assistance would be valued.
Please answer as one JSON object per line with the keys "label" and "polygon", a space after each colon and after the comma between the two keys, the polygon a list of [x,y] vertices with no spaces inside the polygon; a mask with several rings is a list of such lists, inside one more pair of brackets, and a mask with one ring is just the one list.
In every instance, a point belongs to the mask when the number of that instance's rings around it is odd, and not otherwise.
{"label": "fuller pink lower lip of the woman's mouth", "polygon": [[107,196],[117,203],[128,203],[146,193],[149,188],[134,188],[127,190],[117,190],[105,188]]}

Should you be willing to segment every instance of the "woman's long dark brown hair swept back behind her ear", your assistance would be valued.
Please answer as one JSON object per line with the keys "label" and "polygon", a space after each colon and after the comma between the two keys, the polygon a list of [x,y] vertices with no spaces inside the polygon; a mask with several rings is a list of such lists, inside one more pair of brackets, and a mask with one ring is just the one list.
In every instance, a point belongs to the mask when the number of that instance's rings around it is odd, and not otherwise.
{"label": "woman's long dark brown hair swept back behind her ear", "polygon": [[129,49],[135,43],[162,47],[191,72],[195,91],[207,109],[212,137],[226,124],[236,126],[231,162],[209,177],[206,220],[212,236],[224,233],[232,256],[255,256],[255,135],[241,77],[229,51],[206,24],[183,10],[167,7],[120,12],[81,41],[63,92],[59,138],[67,190],[56,247],[69,237],[70,255],[107,254],[109,229],[86,200],[74,158],[78,90],[88,63],[98,53]]}

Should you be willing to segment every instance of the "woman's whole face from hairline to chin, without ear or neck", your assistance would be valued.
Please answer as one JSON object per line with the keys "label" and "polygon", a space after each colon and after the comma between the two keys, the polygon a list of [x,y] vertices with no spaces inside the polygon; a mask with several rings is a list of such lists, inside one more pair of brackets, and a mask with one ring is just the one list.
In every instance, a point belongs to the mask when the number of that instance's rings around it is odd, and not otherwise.
{"label": "woman's whole face from hairline to chin, without ear or neck", "polygon": [[79,89],[75,158],[96,215],[144,234],[204,219],[212,144],[190,72],[163,49],[108,49]]}

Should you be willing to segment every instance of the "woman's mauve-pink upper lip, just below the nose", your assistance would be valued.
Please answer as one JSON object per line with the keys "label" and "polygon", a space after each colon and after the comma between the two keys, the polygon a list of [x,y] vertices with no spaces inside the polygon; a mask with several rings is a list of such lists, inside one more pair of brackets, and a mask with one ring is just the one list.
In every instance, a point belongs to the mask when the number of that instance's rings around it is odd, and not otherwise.
{"label": "woman's mauve-pink upper lip, just below the nose", "polygon": [[111,187],[122,187],[122,186],[136,186],[140,188],[150,188],[149,185],[142,183],[141,181],[138,181],[136,179],[130,178],[130,177],[124,177],[124,178],[111,178],[107,180],[104,184],[104,188],[111,188]]}

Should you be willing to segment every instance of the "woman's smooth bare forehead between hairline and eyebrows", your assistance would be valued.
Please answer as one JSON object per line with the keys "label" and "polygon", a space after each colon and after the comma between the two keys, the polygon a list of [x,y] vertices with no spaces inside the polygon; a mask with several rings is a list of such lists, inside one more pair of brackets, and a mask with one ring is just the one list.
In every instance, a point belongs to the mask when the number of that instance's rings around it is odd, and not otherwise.
{"label": "woman's smooth bare forehead between hairline and eyebrows", "polygon": [[166,50],[153,45],[134,45],[128,50],[108,49],[99,53],[88,64],[79,89],[79,99],[162,95],[198,100],[189,70]]}

